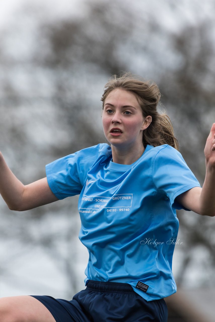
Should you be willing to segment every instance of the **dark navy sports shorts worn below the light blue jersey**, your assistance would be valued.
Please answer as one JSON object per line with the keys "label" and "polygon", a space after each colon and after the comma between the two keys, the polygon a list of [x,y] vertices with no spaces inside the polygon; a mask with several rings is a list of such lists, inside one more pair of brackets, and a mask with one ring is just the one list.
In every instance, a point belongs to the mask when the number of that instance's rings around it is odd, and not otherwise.
{"label": "dark navy sports shorts worn below the light blue jersey", "polygon": [[147,302],[127,283],[89,280],[71,301],[34,296],[56,322],[167,322],[164,299]]}

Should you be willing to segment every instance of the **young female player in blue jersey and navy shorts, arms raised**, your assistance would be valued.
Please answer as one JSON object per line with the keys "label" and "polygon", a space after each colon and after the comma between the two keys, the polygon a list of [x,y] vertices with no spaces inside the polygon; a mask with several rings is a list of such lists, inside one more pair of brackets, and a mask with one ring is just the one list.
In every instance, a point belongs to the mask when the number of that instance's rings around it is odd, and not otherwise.
{"label": "young female player in blue jersey and navy shorts, arms raised", "polygon": [[103,93],[108,144],[46,166],[23,185],[0,157],[0,189],[10,209],[27,210],[80,194],[80,240],[89,251],[86,289],[71,301],[0,299],[1,322],[165,322],[163,298],[176,292],[171,264],[176,209],[215,215],[215,123],[205,146],[203,187],[178,152],[171,122],[156,108],[156,84],[114,77]]}

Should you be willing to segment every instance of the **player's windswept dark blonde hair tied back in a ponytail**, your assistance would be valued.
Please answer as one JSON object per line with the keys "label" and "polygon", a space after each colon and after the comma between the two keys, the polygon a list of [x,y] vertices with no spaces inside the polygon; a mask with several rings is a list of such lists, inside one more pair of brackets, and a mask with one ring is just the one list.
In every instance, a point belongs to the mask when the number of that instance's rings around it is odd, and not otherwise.
{"label": "player's windswept dark blonde hair tied back in a ponytail", "polygon": [[178,140],[174,136],[173,126],[169,116],[165,113],[160,114],[157,111],[157,105],[161,97],[157,84],[145,81],[131,73],[123,73],[120,76],[114,75],[104,87],[104,93],[101,98],[103,108],[106,97],[115,89],[132,92],[141,106],[143,117],[151,115],[151,124],[142,134],[144,147],[147,144],[153,147],[169,144],[176,150],[179,150]]}

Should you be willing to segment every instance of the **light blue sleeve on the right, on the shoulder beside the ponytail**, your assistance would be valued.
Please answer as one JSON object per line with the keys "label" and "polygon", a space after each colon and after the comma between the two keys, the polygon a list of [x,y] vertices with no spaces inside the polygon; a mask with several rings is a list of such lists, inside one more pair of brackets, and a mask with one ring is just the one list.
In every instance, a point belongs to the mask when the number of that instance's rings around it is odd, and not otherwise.
{"label": "light blue sleeve on the right, on the shoulder beside the ponytail", "polygon": [[180,152],[165,145],[154,158],[152,179],[158,192],[165,194],[175,209],[185,209],[175,198],[194,187],[200,187]]}

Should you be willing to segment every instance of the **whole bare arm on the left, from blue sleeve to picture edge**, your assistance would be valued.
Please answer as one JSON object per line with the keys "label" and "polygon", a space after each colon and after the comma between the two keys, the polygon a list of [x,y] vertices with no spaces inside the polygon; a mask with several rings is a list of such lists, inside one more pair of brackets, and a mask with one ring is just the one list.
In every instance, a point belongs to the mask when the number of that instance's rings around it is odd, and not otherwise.
{"label": "whole bare arm on the left, from blue sleeve to picture edge", "polygon": [[58,200],[49,188],[46,177],[23,185],[9,169],[1,152],[0,194],[9,209],[16,211],[29,210]]}

